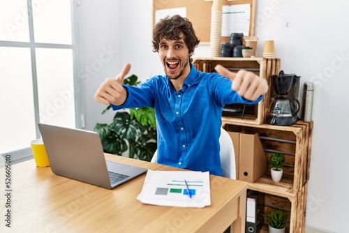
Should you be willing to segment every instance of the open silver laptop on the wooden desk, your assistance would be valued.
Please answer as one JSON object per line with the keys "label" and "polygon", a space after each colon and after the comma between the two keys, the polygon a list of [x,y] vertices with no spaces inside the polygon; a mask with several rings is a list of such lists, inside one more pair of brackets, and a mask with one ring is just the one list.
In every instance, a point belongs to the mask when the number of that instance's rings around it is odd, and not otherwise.
{"label": "open silver laptop on the wooden desk", "polygon": [[147,169],[105,160],[98,133],[38,123],[54,174],[115,188]]}

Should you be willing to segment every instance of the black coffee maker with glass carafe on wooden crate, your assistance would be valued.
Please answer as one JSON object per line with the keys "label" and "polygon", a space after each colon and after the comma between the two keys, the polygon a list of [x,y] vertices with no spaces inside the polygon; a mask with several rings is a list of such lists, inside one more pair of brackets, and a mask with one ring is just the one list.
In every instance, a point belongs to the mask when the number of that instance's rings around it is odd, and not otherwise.
{"label": "black coffee maker with glass carafe on wooden crate", "polygon": [[283,70],[279,75],[272,75],[271,102],[267,123],[278,126],[290,126],[297,121],[299,112],[299,76],[286,75]]}

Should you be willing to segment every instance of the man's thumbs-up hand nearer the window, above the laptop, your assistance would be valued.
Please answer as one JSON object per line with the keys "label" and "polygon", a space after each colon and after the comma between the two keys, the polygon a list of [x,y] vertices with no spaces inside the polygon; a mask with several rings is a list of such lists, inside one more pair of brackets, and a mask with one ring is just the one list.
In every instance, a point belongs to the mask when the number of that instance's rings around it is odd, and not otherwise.
{"label": "man's thumbs-up hand nearer the window, above the laptop", "polygon": [[119,73],[116,78],[108,78],[105,80],[94,94],[95,100],[104,105],[110,105],[110,103],[113,105],[122,105],[127,98],[127,92],[124,87],[122,87],[122,84],[130,70],[131,64],[126,63],[121,73]]}

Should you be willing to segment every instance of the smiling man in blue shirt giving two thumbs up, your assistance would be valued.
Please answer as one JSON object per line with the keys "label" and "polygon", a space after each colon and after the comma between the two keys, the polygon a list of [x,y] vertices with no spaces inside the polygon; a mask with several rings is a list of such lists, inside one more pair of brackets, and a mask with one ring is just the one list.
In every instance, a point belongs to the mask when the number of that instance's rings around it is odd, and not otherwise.
{"label": "smiling man in blue shirt giving two thumbs up", "polygon": [[154,107],[158,163],[221,175],[223,107],[258,103],[268,84],[254,73],[232,73],[220,65],[217,73],[195,70],[191,56],[199,42],[186,18],[164,18],[154,29],[153,51],[158,52],[166,75],[151,77],[138,87],[126,86],[124,77],[131,68],[127,63],[115,79],[101,84],[94,97],[113,110]]}

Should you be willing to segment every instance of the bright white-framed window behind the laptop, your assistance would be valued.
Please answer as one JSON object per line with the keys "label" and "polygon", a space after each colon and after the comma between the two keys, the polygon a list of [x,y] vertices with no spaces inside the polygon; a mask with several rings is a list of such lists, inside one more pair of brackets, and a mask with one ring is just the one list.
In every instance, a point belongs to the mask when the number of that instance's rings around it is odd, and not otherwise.
{"label": "bright white-framed window behind the laptop", "polygon": [[0,154],[31,156],[37,123],[77,127],[73,0],[0,0]]}

